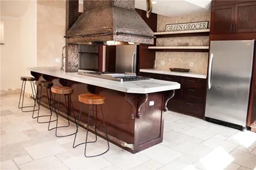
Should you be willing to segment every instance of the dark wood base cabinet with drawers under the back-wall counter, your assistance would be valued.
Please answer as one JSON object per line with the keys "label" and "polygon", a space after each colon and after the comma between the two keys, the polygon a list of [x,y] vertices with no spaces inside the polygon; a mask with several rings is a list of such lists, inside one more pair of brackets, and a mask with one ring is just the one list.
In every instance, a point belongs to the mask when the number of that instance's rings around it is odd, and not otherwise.
{"label": "dark wood base cabinet with drawers under the back-wall counter", "polygon": [[140,72],[139,75],[180,83],[181,88],[167,103],[170,111],[204,119],[206,79]]}

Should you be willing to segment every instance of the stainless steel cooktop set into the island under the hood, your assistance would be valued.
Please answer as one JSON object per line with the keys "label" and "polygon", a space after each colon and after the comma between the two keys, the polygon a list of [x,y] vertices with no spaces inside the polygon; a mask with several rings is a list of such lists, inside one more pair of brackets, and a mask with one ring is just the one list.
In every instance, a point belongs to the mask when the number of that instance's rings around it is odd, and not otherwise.
{"label": "stainless steel cooktop set into the island under the hood", "polygon": [[108,79],[114,80],[118,82],[129,82],[129,81],[137,81],[137,80],[149,80],[149,77],[145,76],[136,76],[134,73],[112,73],[112,72],[99,72],[99,71],[85,71],[85,70],[78,70],[78,74],[86,75],[101,79]]}

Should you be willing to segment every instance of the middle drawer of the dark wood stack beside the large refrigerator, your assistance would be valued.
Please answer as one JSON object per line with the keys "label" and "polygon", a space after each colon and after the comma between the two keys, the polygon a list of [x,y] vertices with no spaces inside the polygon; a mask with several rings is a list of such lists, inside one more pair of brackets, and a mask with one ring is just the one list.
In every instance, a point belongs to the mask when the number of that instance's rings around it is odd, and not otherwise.
{"label": "middle drawer of the dark wood stack beside the large refrigerator", "polygon": [[203,84],[182,83],[181,94],[204,98],[205,87]]}

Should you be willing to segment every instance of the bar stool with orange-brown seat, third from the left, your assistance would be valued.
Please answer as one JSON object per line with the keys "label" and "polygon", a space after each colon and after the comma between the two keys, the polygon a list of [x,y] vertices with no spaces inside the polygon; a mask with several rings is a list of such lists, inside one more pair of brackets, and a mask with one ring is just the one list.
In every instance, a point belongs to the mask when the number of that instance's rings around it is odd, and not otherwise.
{"label": "bar stool with orange-brown seat, third from the left", "polygon": [[[73,110],[73,115],[74,115],[74,119],[75,119],[75,123],[76,123],[76,118],[75,118],[75,112],[74,112],[74,107],[73,107],[73,103],[72,103],[72,100],[71,100],[71,94],[73,93],[73,89],[71,87],[65,87],[65,86],[53,86],[51,88],[51,91],[52,93],[54,93],[54,97],[53,97],[53,104],[52,104],[52,109],[51,109],[51,112],[53,111],[53,106],[54,106],[54,110],[56,112],[56,116],[57,116],[57,122],[56,122],[56,127],[53,127],[52,129],[49,129],[50,128],[50,122],[51,122],[51,119],[52,119],[52,113],[50,115],[50,121],[49,121],[49,125],[48,125],[48,130],[53,130],[55,129],[55,135],[56,137],[67,137],[67,136],[71,136],[71,135],[74,135],[76,134],[75,133],[72,133],[72,134],[68,134],[68,135],[57,135],[57,129],[58,128],[61,128],[61,127],[69,127],[70,123],[69,123],[69,114],[71,114],[71,111],[68,111],[68,103],[67,103],[67,96],[68,96],[68,99],[70,99],[70,103],[71,103],[71,108]],[[56,107],[55,107],[55,96],[56,94],[59,94],[59,101],[58,101],[58,111],[56,111]],[[58,120],[59,120],[59,111],[60,111],[60,95],[64,95],[64,98],[65,98],[65,108],[66,108],[66,111],[67,111],[67,115],[68,115],[68,126],[58,126]]]}

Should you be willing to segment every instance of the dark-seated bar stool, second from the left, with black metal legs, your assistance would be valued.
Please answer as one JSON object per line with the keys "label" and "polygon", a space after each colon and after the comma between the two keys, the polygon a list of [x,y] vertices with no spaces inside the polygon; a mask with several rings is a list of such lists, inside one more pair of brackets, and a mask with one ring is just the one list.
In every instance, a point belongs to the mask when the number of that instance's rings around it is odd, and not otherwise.
{"label": "dark-seated bar stool, second from the left, with black metal legs", "polygon": [[[37,101],[37,104],[38,104],[38,110],[35,110],[35,106],[34,106],[32,118],[33,119],[37,118],[37,122],[38,123],[49,123],[49,121],[47,121],[47,122],[39,122],[38,118],[40,118],[40,117],[50,117],[50,115],[41,115],[41,116],[39,116],[39,110],[40,110],[40,105],[41,105],[42,89],[43,89],[43,87],[45,87],[45,89],[46,89],[48,104],[49,104],[49,108],[51,110],[51,102],[50,102],[51,101],[50,100],[51,99],[51,91],[50,91],[50,88],[53,86],[53,83],[49,82],[49,81],[35,81],[35,85],[37,86],[37,90],[38,90],[38,87],[41,87],[41,91],[40,91],[40,96],[38,96],[38,92],[37,92],[35,100]],[[48,91],[49,91],[49,94],[48,94]],[[37,111],[37,116],[36,117],[34,117],[34,112],[35,111]],[[54,122],[54,121],[56,121],[56,120],[53,120],[52,122]]]}

